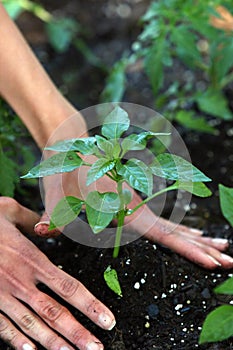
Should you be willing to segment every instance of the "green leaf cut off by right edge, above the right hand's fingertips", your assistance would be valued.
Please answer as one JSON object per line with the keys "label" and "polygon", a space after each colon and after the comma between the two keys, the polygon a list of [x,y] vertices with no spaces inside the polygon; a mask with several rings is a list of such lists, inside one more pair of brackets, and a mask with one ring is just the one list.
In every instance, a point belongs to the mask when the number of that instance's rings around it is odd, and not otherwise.
{"label": "green leaf cut off by right edge, above the right hand's fingertips", "polygon": [[219,195],[222,214],[233,226],[233,188],[219,184]]}

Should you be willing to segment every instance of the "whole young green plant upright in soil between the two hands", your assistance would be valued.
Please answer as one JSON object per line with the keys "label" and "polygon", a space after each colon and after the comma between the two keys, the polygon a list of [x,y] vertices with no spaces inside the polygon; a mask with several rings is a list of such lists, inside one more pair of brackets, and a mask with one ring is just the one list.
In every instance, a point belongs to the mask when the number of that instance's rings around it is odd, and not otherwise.
{"label": "whole young green plant upright in soil between the two hands", "polygon": [[[85,199],[73,196],[64,197],[54,208],[50,222],[51,229],[69,224],[79,215],[83,205],[86,207],[88,223],[95,234],[104,230],[113,219],[116,219],[114,258],[119,253],[125,217],[135,213],[153,198],[178,189],[201,197],[211,195],[211,191],[203,183],[211,181],[210,178],[177,155],[159,154],[149,165],[137,158],[130,158],[126,161],[127,152],[144,150],[149,139],[162,138],[167,135],[143,131],[124,137],[129,126],[130,120],[127,112],[116,106],[105,118],[101,135],[65,140],[47,147],[48,150],[59,153],[44,160],[23,176],[23,178],[44,177],[56,173],[71,172],[85,166],[90,168],[87,173],[87,186],[103,176],[108,176],[115,182],[116,192],[91,191]],[[96,161],[89,164],[78,153],[83,156],[94,155]],[[173,183],[153,193],[153,175]],[[128,188],[125,188],[125,184],[128,185]],[[128,207],[132,200],[130,187],[146,196],[144,200],[131,209]]]}

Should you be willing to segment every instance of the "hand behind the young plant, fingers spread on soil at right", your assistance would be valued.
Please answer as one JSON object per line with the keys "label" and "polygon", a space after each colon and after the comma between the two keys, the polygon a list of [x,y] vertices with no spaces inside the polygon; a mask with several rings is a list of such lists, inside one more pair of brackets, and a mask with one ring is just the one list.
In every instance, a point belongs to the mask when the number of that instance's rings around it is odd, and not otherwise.
{"label": "hand behind the young plant, fingers spread on soil at right", "polygon": [[[81,169],[72,173],[44,178],[48,213],[51,213],[55,203],[63,196],[73,195],[85,198],[86,193],[83,192],[92,190],[85,185],[87,169]],[[111,180],[106,176],[98,180],[96,186],[100,192],[114,191]],[[139,196],[134,193],[130,207],[135,207],[140,201]],[[45,213],[41,220],[44,224],[39,223],[36,232],[40,235],[48,235],[49,215]],[[228,247],[227,240],[202,237],[202,231],[200,230],[158,218],[146,205],[132,216],[127,217],[125,223],[128,224],[129,229],[137,231],[141,236],[145,235],[151,241],[170,248],[204,268],[214,269],[221,266],[229,269],[233,267],[233,259],[222,253]],[[57,234],[58,231],[55,231],[55,233]]]}

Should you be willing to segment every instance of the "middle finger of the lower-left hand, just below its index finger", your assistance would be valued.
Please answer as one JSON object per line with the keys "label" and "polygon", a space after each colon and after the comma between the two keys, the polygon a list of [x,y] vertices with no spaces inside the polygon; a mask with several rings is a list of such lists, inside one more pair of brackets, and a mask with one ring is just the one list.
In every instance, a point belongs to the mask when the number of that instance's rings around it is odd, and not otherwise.
{"label": "middle finger of the lower-left hand, just below its index finger", "polygon": [[42,320],[80,350],[103,349],[103,345],[94,335],[85,329],[65,307],[48,295],[37,291],[29,304]]}

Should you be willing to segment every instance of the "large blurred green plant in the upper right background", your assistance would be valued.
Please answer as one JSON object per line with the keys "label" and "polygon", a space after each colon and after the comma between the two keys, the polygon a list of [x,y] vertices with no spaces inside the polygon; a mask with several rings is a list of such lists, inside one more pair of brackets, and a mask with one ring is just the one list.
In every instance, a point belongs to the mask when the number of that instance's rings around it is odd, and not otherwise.
{"label": "large blurred green plant in the upper right background", "polygon": [[[130,84],[128,73],[133,67],[142,69],[156,108],[190,129],[216,133],[206,114],[224,120],[233,118],[224,94],[233,81],[233,36],[210,22],[213,16],[221,16],[221,11],[217,12],[219,4],[233,11],[230,0],[197,0],[195,4],[193,0],[152,1],[140,20],[142,32],[132,44],[131,53],[124,53],[107,77],[102,101],[121,101]],[[179,71],[175,72],[176,80],[170,81],[169,72],[176,69],[172,68],[175,62],[188,69],[187,81],[181,82]]]}

